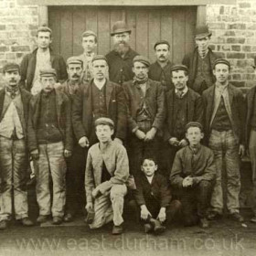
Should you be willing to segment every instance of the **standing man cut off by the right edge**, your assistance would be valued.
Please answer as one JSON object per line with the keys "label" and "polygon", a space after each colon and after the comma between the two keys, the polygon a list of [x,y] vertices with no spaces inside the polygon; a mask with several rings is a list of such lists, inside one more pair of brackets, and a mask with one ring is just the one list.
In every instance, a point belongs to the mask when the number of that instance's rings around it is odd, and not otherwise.
{"label": "standing man cut off by the right edge", "polygon": [[[256,57],[252,66],[256,73]],[[256,87],[252,87],[246,95],[247,118],[246,118],[246,145],[249,148],[251,158],[251,173],[252,173],[252,211],[253,217],[251,222],[256,223],[256,112],[255,112],[255,94]]]}

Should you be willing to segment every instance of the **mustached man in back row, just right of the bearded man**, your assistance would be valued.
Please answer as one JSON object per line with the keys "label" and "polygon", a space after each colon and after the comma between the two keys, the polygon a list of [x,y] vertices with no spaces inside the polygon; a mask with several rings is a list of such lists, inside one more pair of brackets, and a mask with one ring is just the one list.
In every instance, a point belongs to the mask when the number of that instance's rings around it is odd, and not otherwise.
{"label": "mustached man in back row, just right of the bearded man", "polygon": [[171,78],[173,64],[169,60],[170,44],[166,40],[160,40],[155,43],[154,49],[156,61],[150,65],[148,77],[160,81],[165,91],[169,91],[174,88]]}

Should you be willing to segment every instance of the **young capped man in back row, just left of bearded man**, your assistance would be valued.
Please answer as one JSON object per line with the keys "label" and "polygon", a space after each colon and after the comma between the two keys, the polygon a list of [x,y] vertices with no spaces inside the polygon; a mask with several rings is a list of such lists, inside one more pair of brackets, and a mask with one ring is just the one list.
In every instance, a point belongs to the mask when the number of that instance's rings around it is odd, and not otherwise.
{"label": "young capped man in back row, just left of bearded man", "polygon": [[81,35],[81,46],[83,48],[83,53],[79,56],[83,62],[81,79],[84,82],[89,82],[93,78],[91,60],[95,56],[97,48],[97,35],[91,30],[84,31]]}

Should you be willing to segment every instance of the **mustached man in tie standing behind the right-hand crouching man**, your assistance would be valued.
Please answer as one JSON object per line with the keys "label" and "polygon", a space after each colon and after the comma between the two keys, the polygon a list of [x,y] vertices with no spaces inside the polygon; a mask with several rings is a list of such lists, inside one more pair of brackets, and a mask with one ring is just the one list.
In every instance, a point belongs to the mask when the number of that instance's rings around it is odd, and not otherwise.
{"label": "mustached man in tie standing behind the right-hand crouching man", "polygon": [[176,152],[187,146],[185,127],[189,122],[203,121],[203,104],[200,95],[187,87],[187,67],[175,65],[171,68],[172,81],[175,89],[165,93],[165,166],[166,176],[174,162]]}

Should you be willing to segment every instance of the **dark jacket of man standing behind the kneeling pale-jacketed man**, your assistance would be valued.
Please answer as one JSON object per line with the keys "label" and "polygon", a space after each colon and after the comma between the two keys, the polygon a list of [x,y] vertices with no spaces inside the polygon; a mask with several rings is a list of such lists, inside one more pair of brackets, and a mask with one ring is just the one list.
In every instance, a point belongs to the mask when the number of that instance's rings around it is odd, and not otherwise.
{"label": "dark jacket of man standing behind the kneeling pale-jacketed man", "polygon": [[[94,133],[92,112],[92,81],[85,83],[73,101],[72,123],[74,133],[79,141],[81,137],[90,138]],[[125,140],[127,125],[127,107],[123,88],[110,80],[106,83],[106,105],[108,117],[115,124],[115,137]]]}

